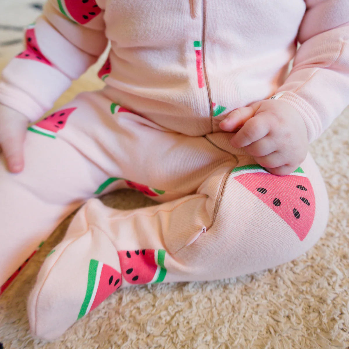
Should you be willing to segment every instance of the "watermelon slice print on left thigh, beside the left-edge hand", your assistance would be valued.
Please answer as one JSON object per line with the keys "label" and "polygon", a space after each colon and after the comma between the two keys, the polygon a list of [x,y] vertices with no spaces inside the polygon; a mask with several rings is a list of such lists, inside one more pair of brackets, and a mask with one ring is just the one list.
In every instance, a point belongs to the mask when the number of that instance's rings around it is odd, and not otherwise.
{"label": "watermelon slice print on left thigh, beside the left-edge hand", "polygon": [[37,122],[35,125],[29,126],[28,130],[50,138],[56,138],[55,134],[64,128],[69,115],[76,108],[68,108],[58,110],[45,119]]}

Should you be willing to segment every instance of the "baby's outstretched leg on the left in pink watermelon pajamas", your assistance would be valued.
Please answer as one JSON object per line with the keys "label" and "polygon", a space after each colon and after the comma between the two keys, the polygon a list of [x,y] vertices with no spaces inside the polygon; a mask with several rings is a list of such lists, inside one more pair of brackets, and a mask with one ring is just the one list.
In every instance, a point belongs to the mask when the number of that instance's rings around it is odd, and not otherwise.
{"label": "baby's outstretched leg on the left in pink watermelon pajamas", "polygon": [[19,174],[9,173],[0,155],[0,286],[88,198],[133,187],[160,202],[176,199],[231,158],[203,137],[164,129],[102,92],[82,93],[31,126],[24,151]]}

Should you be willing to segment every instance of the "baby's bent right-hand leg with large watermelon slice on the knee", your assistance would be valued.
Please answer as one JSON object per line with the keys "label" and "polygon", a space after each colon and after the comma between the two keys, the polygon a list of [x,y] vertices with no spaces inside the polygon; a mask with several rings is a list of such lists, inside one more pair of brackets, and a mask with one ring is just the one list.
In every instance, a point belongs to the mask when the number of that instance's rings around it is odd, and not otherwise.
{"label": "baby's bent right-hand leg with large watermelon slice on the knee", "polygon": [[328,216],[311,158],[274,176],[246,156],[225,162],[195,194],[120,211],[89,200],[44,262],[29,297],[31,331],[62,334],[120,287],[257,272],[307,251]]}

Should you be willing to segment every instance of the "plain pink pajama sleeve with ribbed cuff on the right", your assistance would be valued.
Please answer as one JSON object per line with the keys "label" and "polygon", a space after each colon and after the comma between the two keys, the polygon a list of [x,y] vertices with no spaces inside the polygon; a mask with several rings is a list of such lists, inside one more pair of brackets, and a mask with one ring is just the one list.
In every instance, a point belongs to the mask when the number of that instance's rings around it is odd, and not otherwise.
{"label": "plain pink pajama sleeve with ribbed cuff on the right", "polygon": [[349,1],[305,3],[297,35],[301,45],[275,98],[300,113],[312,142],[349,104]]}

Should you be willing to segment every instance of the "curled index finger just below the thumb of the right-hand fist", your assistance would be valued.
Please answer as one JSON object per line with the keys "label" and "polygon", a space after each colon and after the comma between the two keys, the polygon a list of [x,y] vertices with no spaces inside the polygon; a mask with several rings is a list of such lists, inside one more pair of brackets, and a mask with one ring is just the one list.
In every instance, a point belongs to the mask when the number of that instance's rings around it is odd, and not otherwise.
{"label": "curled index finger just below the thumb of the right-hand fist", "polygon": [[265,137],[269,133],[270,127],[262,118],[251,118],[245,125],[232,136],[230,144],[235,148],[246,147],[253,142]]}

